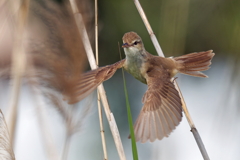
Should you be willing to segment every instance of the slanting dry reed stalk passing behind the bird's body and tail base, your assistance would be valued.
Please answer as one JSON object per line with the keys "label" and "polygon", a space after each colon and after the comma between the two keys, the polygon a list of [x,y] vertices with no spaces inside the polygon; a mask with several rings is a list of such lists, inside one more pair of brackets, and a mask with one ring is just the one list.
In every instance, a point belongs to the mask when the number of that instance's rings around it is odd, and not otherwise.
{"label": "slanting dry reed stalk passing behind the bird's body and tail base", "polygon": [[[147,31],[148,31],[148,33],[149,33],[149,35],[151,37],[151,40],[152,40],[152,42],[154,44],[154,47],[155,47],[158,55],[161,56],[161,57],[165,57],[163,52],[162,52],[162,49],[161,49],[161,47],[160,47],[160,45],[159,45],[159,43],[157,41],[157,38],[156,38],[152,28],[151,28],[151,25],[148,22],[148,19],[147,19],[146,15],[145,15],[145,13],[144,13],[144,11],[142,9],[141,4],[139,3],[138,0],[133,0],[133,1],[134,1],[135,5],[136,5],[136,8],[137,8],[137,10],[138,10],[138,12],[139,12],[139,14],[140,14],[140,16],[141,16],[145,26],[146,26],[146,28],[147,28]],[[179,92],[179,95],[181,97],[183,111],[184,111],[185,116],[187,118],[187,121],[188,121],[188,123],[189,123],[189,125],[191,127],[191,131],[192,131],[192,133],[194,135],[194,138],[195,138],[195,140],[197,142],[197,145],[198,145],[198,147],[200,149],[200,152],[202,153],[202,156],[203,156],[204,160],[209,160],[210,158],[209,158],[209,156],[207,154],[205,146],[204,146],[204,144],[202,142],[202,139],[201,139],[201,137],[200,137],[200,135],[199,135],[199,133],[198,133],[198,131],[196,129],[196,126],[194,125],[193,120],[192,120],[192,118],[191,118],[191,116],[190,116],[190,114],[188,112],[188,109],[187,109],[186,103],[184,101],[182,92],[181,92],[181,90],[180,90],[180,88],[179,88],[179,86],[178,86],[176,81],[174,81],[174,85],[175,85],[175,87],[176,87],[176,89]]]}

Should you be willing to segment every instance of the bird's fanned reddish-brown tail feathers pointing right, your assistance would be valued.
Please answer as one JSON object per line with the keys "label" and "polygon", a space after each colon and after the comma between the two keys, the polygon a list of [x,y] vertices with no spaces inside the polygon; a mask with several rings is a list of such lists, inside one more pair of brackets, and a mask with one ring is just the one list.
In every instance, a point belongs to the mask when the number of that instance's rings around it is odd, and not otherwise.
{"label": "bird's fanned reddish-brown tail feathers pointing right", "polygon": [[177,69],[180,73],[196,77],[207,77],[200,71],[206,71],[210,68],[214,55],[215,53],[209,50],[175,57],[174,60],[177,62]]}

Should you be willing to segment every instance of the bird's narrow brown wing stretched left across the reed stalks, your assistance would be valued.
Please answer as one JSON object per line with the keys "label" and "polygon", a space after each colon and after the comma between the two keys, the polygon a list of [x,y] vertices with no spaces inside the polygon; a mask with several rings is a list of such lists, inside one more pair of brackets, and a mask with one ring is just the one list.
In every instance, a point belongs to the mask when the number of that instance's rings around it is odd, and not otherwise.
{"label": "bird's narrow brown wing stretched left across the reed stalks", "polygon": [[64,100],[67,100],[69,104],[73,104],[84,99],[103,81],[111,78],[116,70],[123,66],[124,62],[125,59],[112,65],[100,67],[84,73],[79,82],[74,86],[71,96],[65,96]]}

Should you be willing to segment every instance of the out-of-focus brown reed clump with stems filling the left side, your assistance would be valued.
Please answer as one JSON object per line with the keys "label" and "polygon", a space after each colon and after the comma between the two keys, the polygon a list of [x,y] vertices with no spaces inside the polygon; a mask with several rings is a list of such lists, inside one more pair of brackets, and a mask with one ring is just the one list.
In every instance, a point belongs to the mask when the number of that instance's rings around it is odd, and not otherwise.
{"label": "out-of-focus brown reed clump with stems filling the left side", "polygon": [[[91,2],[79,0],[77,6],[82,10],[84,25],[91,37]],[[36,96],[39,125],[42,126],[40,129],[46,152],[51,152],[48,154],[49,159],[59,159],[56,146],[50,142],[51,133],[47,129],[49,126],[46,126],[48,117],[44,113],[47,107],[55,106],[66,121],[63,159],[67,159],[71,136],[80,131],[83,119],[89,115],[91,108],[91,105],[87,104],[79,116],[75,112],[78,106],[69,106],[61,98],[62,94],[72,97],[72,88],[80,79],[86,64],[85,50],[80,36],[76,34],[77,26],[69,2],[1,0],[0,17],[0,78],[10,81],[17,79],[13,83],[16,85],[12,86],[14,96],[10,100],[11,106],[18,106],[20,86],[23,82],[32,88],[33,95]],[[47,105],[46,100],[51,101],[52,105]],[[15,119],[13,123],[16,124],[17,108],[8,113],[14,113],[9,119]],[[10,127],[10,135],[14,137],[14,134],[17,134],[16,125]]]}

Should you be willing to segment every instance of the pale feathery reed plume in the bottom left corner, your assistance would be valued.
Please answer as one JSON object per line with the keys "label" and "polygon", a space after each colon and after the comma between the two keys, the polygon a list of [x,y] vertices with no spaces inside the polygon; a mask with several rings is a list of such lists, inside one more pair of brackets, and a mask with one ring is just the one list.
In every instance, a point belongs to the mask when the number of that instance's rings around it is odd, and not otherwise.
{"label": "pale feathery reed plume in the bottom left corner", "polygon": [[0,109],[0,159],[15,160],[7,124]]}

